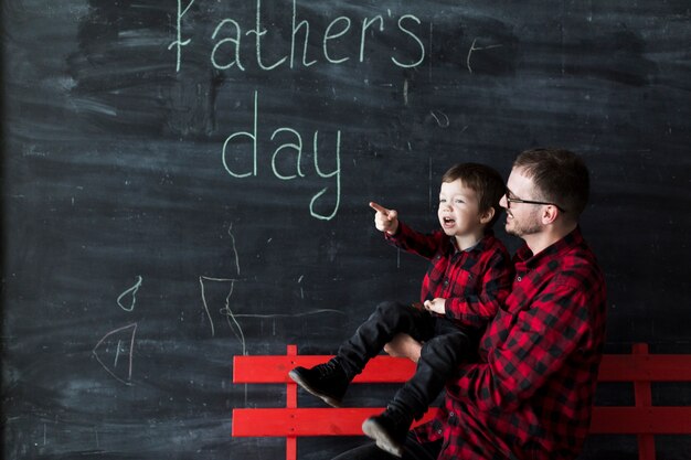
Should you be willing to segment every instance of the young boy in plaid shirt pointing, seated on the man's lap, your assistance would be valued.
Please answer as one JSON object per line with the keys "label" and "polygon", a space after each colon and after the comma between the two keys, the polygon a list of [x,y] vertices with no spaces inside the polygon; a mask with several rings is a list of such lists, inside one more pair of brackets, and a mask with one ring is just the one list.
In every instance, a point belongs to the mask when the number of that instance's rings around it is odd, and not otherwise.
{"label": "young boy in plaid shirt pointing, seated on the man's lap", "polygon": [[415,375],[384,413],[362,425],[366,436],[394,456],[402,456],[413,420],[425,414],[446,381],[474,355],[479,335],[510,290],[510,257],[491,232],[504,191],[496,170],[477,163],[454,165],[442,178],[442,229],[429,235],[400,222],[395,211],[370,203],[376,211],[376,228],[387,240],[429,259],[422,303],[381,303],[332,360],[289,373],[306,391],[340,407],[352,378],[394,335],[407,333],[424,342]]}

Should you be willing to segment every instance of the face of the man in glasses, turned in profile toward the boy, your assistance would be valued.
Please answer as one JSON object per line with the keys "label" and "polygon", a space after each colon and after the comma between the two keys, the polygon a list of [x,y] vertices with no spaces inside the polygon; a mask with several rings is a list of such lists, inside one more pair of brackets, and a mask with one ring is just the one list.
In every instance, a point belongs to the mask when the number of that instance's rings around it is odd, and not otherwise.
{"label": "face of the man in glasses, turned in profile toward the boy", "polygon": [[532,179],[523,175],[522,169],[511,170],[507,181],[507,193],[499,204],[507,211],[506,231],[509,235],[520,238],[534,235],[543,229],[540,218],[541,205],[530,203],[509,203],[510,199],[539,200]]}

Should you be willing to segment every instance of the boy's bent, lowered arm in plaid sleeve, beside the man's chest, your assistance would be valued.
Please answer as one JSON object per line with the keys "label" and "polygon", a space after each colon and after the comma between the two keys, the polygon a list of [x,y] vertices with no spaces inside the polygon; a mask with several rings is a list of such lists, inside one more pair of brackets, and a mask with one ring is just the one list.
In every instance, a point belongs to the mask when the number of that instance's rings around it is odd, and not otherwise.
{"label": "boy's bent, lowered arm in plaid sleeve, beside the man's chest", "polygon": [[511,291],[513,269],[504,252],[495,252],[476,286],[479,291],[446,299],[444,314],[475,328],[483,328],[499,311]]}

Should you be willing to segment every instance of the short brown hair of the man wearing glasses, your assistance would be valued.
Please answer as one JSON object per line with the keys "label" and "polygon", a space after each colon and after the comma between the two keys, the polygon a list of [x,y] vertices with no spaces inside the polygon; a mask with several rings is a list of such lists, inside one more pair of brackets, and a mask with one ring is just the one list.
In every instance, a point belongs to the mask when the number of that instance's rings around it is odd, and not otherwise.
{"label": "short brown hair of the man wearing glasses", "polygon": [[588,202],[591,178],[581,157],[565,149],[539,148],[521,152],[513,168],[532,179],[543,200],[557,204],[576,220]]}

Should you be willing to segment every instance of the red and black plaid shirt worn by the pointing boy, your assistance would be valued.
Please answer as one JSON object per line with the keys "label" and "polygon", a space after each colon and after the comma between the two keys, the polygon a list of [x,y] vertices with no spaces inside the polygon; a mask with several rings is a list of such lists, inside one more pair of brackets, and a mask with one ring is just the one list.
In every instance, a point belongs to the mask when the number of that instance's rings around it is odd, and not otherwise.
{"label": "red and black plaid shirt worn by the pointing boy", "polygon": [[[446,317],[456,323],[483,328],[495,318],[511,289],[511,257],[489,232],[477,245],[459,250],[456,238],[437,231],[426,235],[398,223],[395,246],[429,259],[421,301],[446,299]],[[436,314],[436,313],[435,313]]]}

